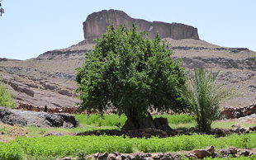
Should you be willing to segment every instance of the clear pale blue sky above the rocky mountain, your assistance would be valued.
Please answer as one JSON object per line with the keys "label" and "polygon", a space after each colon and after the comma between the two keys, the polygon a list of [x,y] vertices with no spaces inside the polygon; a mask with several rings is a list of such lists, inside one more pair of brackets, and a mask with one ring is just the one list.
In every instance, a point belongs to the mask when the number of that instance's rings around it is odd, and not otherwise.
{"label": "clear pale blue sky above the rocky mountain", "polygon": [[201,40],[256,51],[255,6],[254,0],[2,0],[0,58],[31,59],[75,45],[83,40],[83,21],[103,9],[194,26]]}

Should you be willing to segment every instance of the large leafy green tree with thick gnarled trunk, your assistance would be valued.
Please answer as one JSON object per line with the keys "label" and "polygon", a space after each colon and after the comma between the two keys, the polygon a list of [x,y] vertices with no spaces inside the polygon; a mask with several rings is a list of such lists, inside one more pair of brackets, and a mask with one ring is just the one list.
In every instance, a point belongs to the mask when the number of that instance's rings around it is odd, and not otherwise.
{"label": "large leafy green tree with thick gnarled trunk", "polygon": [[158,111],[186,106],[180,94],[186,82],[181,62],[171,58],[173,51],[159,35],[149,40],[145,31],[136,30],[135,24],[107,26],[76,75],[79,108],[102,112],[114,106],[127,116],[122,129],[154,128],[152,106]]}

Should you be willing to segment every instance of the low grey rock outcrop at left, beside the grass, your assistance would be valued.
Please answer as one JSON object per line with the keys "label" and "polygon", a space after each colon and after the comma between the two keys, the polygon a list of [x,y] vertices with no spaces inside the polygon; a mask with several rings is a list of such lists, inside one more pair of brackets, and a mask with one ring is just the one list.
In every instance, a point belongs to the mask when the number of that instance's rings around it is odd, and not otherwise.
{"label": "low grey rock outcrop at left, beside the grass", "polygon": [[0,120],[7,125],[74,128],[81,125],[69,114],[13,110],[0,106]]}

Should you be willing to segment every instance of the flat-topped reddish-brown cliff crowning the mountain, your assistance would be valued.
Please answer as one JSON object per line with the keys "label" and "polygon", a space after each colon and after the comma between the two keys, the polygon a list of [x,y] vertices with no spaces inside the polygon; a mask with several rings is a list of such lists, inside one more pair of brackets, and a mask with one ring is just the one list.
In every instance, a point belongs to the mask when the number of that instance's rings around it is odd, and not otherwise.
{"label": "flat-topped reddish-brown cliff crowning the mountain", "polygon": [[197,28],[193,26],[187,26],[181,23],[150,22],[135,19],[128,16],[126,12],[118,10],[102,10],[101,12],[93,12],[90,14],[86,21],[83,22],[84,39],[88,43],[94,44],[95,42],[93,40],[99,38],[100,35],[106,32],[106,26],[111,25],[109,20],[114,23],[115,28],[120,24],[126,24],[128,27],[131,27],[129,22],[137,22],[138,30],[149,32],[150,39],[153,39],[154,36],[159,33],[161,38],[199,40]]}

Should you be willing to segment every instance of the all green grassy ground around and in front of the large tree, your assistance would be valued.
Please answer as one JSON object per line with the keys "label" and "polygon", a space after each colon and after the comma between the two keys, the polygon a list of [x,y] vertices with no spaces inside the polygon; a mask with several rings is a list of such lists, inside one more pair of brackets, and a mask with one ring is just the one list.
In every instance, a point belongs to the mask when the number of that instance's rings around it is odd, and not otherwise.
{"label": "all green grassy ground around and in front of the large tree", "polygon": [[[83,128],[38,128],[0,125],[0,159],[55,159],[79,157],[79,155],[118,151],[120,153],[179,152],[206,148],[214,145],[216,149],[234,146],[237,148],[256,148],[256,134],[233,134],[216,139],[213,135],[181,135],[159,139],[123,139],[117,136],[69,136],[77,132],[92,130],[120,129],[116,123],[124,125],[125,115],[75,115]],[[153,115],[157,118],[160,115]],[[163,115],[173,129],[189,129],[196,126],[191,115]],[[231,125],[252,126],[249,123],[216,121],[213,128],[228,128]],[[49,132],[64,132],[67,135],[43,137]],[[2,134],[3,133],[3,134]],[[21,137],[19,137],[21,136]],[[3,142],[3,143],[1,143]]]}

